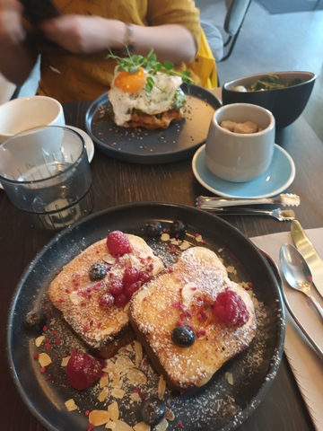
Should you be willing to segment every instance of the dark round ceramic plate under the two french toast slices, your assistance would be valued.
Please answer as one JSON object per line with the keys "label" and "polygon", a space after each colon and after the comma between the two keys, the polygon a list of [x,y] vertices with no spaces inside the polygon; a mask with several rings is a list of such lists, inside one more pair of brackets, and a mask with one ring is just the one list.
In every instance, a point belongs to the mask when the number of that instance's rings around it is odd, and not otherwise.
{"label": "dark round ceramic plate under the two french toast slices", "polygon": [[[38,351],[34,344],[38,334],[25,328],[24,316],[43,302],[57,269],[93,242],[106,237],[109,231],[119,229],[140,235],[158,251],[162,242],[146,236],[146,224],[161,221],[167,228],[176,219],[188,224],[188,242],[201,245],[195,239],[196,233],[201,234],[205,247],[216,251],[226,266],[236,268],[236,274],[231,276],[235,281],[252,283],[259,309],[258,333],[248,349],[223,365],[211,382],[198,391],[182,396],[173,392],[167,394],[167,406],[175,415],[168,429],[178,430],[181,421],[184,429],[190,431],[229,431],[248,418],[264,398],[275,379],[284,347],[282,297],[266,260],[254,244],[231,224],[194,207],[161,202],[129,204],[93,214],[58,234],[31,262],[13,295],[7,328],[7,350],[13,382],[28,409],[48,430],[86,431],[88,418],[77,411],[67,412],[64,402],[73,398],[82,412],[93,409],[93,388],[76,391],[66,385],[60,362],[57,369],[54,364],[49,365],[52,366],[51,370],[48,367],[52,378],[45,380],[45,375],[39,372],[38,361],[33,358]],[[68,334],[66,339],[68,343],[63,348],[67,350],[75,337]],[[48,353],[55,356],[55,351],[52,348]],[[232,385],[228,383],[225,373],[232,374]],[[110,398],[107,404],[112,400]],[[124,409],[128,399],[125,400],[118,400],[122,419],[134,425],[141,421],[140,406],[134,403],[130,409]],[[103,403],[97,404],[96,409],[106,409],[107,404],[105,407]],[[106,428],[95,429],[103,431]]]}

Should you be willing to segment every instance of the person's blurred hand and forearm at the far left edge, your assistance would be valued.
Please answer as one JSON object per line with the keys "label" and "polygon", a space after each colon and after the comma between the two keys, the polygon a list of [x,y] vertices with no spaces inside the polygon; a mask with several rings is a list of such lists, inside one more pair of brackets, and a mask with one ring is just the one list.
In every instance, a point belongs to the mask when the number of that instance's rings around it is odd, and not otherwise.
{"label": "person's blurred hand and forearm at the far left edge", "polygon": [[22,5],[0,0],[0,72],[14,84],[22,85],[36,63],[37,55],[25,44]]}

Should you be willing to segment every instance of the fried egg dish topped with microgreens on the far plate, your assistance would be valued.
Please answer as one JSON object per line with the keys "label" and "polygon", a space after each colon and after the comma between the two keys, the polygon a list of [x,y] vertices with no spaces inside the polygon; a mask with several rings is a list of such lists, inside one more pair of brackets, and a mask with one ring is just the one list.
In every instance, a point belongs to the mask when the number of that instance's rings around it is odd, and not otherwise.
{"label": "fried egg dish topped with microgreens on the far plate", "polygon": [[110,58],[117,61],[109,89],[112,118],[122,128],[168,128],[184,118],[186,96],[180,85],[193,84],[188,74],[172,69],[170,62],[157,61],[153,49],[140,55]]}

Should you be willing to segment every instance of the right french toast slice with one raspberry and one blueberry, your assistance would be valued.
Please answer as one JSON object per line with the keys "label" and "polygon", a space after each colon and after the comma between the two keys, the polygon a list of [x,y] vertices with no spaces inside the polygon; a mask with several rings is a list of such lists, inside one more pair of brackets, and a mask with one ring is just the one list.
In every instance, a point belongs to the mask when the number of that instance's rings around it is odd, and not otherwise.
{"label": "right french toast slice with one raspberry and one blueberry", "polygon": [[[214,301],[227,288],[240,295],[249,312],[241,327],[223,323],[214,315]],[[183,251],[167,272],[135,293],[130,321],[158,374],[171,389],[179,391],[207,383],[227,360],[248,347],[256,334],[250,295],[229,279],[214,251],[203,247]],[[174,344],[171,334],[177,326],[194,331],[193,345]]]}

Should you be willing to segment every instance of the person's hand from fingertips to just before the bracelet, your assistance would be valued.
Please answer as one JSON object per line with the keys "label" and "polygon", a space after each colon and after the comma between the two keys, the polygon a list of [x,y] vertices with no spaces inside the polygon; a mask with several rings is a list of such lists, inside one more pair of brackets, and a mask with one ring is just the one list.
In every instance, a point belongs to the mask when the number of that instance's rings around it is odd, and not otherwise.
{"label": "person's hand from fingertips to just before the bracelet", "polygon": [[[0,0],[2,1],[2,0]],[[63,15],[41,22],[49,40],[74,54],[90,54],[109,45],[109,22],[99,16]]]}

